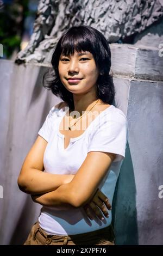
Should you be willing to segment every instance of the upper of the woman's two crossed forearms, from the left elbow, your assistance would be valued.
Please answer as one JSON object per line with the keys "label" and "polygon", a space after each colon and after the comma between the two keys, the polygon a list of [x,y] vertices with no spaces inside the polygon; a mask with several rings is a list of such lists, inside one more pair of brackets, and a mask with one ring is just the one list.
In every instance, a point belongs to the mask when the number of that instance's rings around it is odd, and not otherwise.
{"label": "upper of the woman's two crossed forearms, from the left elbow", "polygon": [[29,169],[18,178],[20,190],[28,194],[44,194],[56,190],[59,186],[71,182],[74,175],[51,174],[37,169]]}

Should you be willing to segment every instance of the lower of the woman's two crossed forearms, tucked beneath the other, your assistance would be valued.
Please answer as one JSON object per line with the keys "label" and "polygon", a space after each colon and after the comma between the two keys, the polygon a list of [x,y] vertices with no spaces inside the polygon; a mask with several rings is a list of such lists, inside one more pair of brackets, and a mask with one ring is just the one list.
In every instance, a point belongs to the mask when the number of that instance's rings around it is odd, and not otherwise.
{"label": "lower of the woman's two crossed forearms, tucked beneath the other", "polygon": [[57,207],[61,210],[74,208],[73,198],[74,196],[69,184],[61,185],[57,190],[52,192],[32,196],[35,203],[39,203],[43,206]]}

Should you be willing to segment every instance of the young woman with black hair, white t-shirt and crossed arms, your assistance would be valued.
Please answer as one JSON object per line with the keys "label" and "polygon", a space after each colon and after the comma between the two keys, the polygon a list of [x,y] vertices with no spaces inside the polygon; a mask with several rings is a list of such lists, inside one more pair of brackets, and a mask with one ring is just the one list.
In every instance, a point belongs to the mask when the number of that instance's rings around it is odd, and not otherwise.
{"label": "young woman with black hair, white t-shirt and crossed arms", "polygon": [[110,58],[102,33],[88,26],[71,27],[55,47],[45,87],[62,102],[49,111],[18,177],[43,206],[24,245],[114,245],[110,204],[127,119],[112,105]]}

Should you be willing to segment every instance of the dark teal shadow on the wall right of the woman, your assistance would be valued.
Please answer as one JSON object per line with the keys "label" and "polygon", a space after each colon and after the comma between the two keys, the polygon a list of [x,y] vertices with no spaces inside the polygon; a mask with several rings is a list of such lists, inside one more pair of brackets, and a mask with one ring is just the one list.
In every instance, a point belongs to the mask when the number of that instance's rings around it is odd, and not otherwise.
{"label": "dark teal shadow on the wall right of the woman", "polygon": [[121,166],[114,199],[112,202],[112,223],[116,245],[138,245],[136,186],[134,169],[127,142],[126,157]]}

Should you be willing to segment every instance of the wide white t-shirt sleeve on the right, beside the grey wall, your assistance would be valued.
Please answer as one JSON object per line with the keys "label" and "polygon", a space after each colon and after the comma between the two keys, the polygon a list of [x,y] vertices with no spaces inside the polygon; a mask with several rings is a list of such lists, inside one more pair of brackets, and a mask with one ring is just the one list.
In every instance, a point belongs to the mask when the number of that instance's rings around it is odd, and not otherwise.
{"label": "wide white t-shirt sleeve on the right, beside the grey wall", "polygon": [[89,150],[103,151],[116,154],[114,162],[121,161],[125,157],[128,137],[127,118],[116,113],[113,117],[106,116],[96,127],[96,131],[92,136]]}

